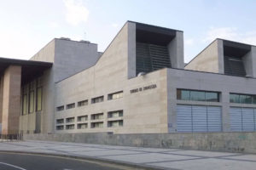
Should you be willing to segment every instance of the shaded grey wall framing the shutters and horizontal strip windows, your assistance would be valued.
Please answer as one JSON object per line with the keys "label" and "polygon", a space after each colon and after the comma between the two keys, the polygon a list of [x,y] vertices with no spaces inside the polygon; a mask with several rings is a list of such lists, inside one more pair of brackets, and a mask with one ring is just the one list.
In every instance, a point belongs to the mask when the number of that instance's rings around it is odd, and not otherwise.
{"label": "shaded grey wall framing the shutters and horizontal strip windows", "polygon": [[[223,131],[230,131],[230,106],[256,108],[252,104],[230,103],[230,93],[255,94],[256,79],[247,77],[230,77],[222,74],[199,71],[167,70],[168,122],[169,132],[177,129],[176,106],[183,105],[218,105],[222,107]],[[177,100],[177,88],[220,92],[220,102],[200,102]]]}

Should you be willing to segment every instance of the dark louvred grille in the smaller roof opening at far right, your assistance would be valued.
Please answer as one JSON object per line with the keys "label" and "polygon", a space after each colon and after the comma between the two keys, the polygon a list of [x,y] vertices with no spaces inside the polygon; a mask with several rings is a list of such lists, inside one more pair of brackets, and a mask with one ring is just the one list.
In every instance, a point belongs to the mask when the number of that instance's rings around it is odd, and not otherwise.
{"label": "dark louvred grille in the smaller roof opening at far right", "polygon": [[244,69],[241,58],[234,58],[224,56],[224,72],[226,75],[245,77],[246,71]]}

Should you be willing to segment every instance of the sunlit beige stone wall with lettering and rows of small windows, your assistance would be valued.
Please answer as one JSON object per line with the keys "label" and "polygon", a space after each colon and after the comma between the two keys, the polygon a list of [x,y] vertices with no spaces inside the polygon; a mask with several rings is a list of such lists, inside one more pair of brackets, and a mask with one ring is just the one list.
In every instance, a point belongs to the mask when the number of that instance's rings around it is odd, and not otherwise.
{"label": "sunlit beige stone wall with lettering and rows of small windows", "polygon": [[[88,99],[89,105],[55,111],[55,119],[104,113],[104,127],[55,131],[55,133],[114,132],[167,133],[166,70],[154,71],[143,77],[127,79],[130,23],[126,23],[102,54],[95,66],[56,84],[55,107]],[[75,82],[75,83],[74,83]],[[157,88],[131,93],[132,89],[155,84]],[[120,99],[108,100],[108,94],[123,91]],[[90,104],[90,99],[104,95],[104,102]],[[123,127],[108,127],[108,111],[123,110]],[[143,121],[142,121],[143,120]],[[77,123],[77,122],[74,122]]]}

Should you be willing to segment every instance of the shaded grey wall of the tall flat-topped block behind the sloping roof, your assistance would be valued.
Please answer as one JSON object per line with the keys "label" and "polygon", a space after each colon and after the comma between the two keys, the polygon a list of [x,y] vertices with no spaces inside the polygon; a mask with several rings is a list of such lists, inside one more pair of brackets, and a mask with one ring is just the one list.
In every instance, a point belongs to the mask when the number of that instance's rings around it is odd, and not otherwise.
{"label": "shaded grey wall of the tall flat-topped block behind the sloping roof", "polygon": [[95,65],[100,56],[97,44],[55,38],[55,82]]}

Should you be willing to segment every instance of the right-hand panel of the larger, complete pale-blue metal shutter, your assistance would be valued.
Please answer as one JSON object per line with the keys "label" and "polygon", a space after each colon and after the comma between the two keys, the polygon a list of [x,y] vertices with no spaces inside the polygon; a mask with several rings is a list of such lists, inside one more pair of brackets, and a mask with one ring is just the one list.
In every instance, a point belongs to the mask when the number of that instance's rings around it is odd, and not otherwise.
{"label": "right-hand panel of the larger, complete pale-blue metal shutter", "polygon": [[222,130],[221,107],[207,106],[208,132],[220,132]]}

